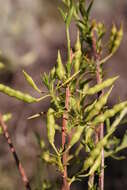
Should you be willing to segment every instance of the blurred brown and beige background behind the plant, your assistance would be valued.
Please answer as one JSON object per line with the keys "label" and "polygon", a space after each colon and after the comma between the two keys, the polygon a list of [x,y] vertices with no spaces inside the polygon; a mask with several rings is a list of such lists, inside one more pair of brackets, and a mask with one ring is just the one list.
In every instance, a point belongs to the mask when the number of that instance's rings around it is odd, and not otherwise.
{"label": "blurred brown and beige background behind the plant", "polygon": [[[25,69],[43,89],[40,75],[56,63],[58,48],[62,50],[63,56],[66,53],[65,28],[57,9],[60,3],[60,0],[0,0],[0,62],[6,66],[6,69],[0,72],[0,83],[36,95],[25,83],[22,75],[22,70]],[[120,49],[106,65],[106,76],[120,75],[110,100],[110,104],[113,104],[119,98],[125,100],[127,97],[127,1],[95,0],[92,17],[103,21],[107,30],[113,22],[120,25],[122,21],[124,25],[124,38]],[[30,115],[46,110],[47,106],[48,102],[28,105],[0,93],[0,111],[13,114],[8,130],[32,189],[37,190],[44,176],[52,181],[57,180],[57,173],[51,175],[51,168],[47,170],[38,158],[40,150],[35,133],[45,138],[44,121],[27,120]],[[118,135],[123,133],[121,130]],[[0,190],[23,190],[3,136],[0,136],[0,145]],[[124,155],[127,155],[126,151]],[[105,190],[126,189],[127,160],[120,162],[108,159],[107,162]],[[83,187],[83,184],[78,184],[78,189],[83,190]],[[77,189],[77,185],[74,184],[72,189]]]}

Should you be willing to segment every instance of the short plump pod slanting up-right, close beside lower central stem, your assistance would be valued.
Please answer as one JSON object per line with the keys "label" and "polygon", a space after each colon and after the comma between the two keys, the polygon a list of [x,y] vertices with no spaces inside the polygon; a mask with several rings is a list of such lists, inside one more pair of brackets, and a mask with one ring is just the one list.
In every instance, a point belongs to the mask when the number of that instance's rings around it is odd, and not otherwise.
{"label": "short plump pod slanting up-right, close beside lower central stem", "polygon": [[79,141],[83,130],[84,130],[83,126],[78,126],[77,127],[75,133],[73,134],[73,136],[71,138],[71,141],[70,141],[69,146],[68,146],[67,149],[70,149],[73,145],[75,145]]}

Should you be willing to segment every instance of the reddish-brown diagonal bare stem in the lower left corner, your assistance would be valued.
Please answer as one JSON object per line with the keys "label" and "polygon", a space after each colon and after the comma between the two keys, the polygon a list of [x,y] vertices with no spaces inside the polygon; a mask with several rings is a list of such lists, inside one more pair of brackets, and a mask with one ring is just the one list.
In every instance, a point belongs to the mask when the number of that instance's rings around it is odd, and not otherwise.
{"label": "reddish-brown diagonal bare stem in the lower left corner", "polygon": [[25,186],[26,190],[31,190],[31,187],[30,187],[30,184],[29,184],[29,180],[28,180],[28,178],[27,178],[27,176],[26,176],[26,174],[25,174],[25,170],[24,170],[24,168],[23,168],[23,166],[22,166],[22,164],[21,164],[21,162],[20,162],[20,160],[19,160],[19,158],[18,158],[18,155],[17,155],[17,153],[16,153],[16,151],[15,151],[15,148],[14,148],[14,146],[13,146],[13,143],[12,143],[12,141],[11,141],[10,135],[9,135],[9,133],[8,133],[8,130],[7,130],[7,126],[6,126],[6,124],[4,123],[4,121],[3,121],[3,118],[2,118],[1,113],[0,113],[0,125],[1,125],[1,127],[2,127],[2,130],[3,130],[3,134],[4,134],[4,136],[5,136],[5,139],[6,139],[8,145],[9,145],[9,147],[10,147],[10,151],[11,151],[13,157],[14,157],[16,166],[17,166],[17,168],[18,168],[18,170],[19,170],[19,173],[20,173],[20,175],[21,175],[21,178],[22,178],[22,181],[23,181],[23,183],[24,183],[24,186]]}

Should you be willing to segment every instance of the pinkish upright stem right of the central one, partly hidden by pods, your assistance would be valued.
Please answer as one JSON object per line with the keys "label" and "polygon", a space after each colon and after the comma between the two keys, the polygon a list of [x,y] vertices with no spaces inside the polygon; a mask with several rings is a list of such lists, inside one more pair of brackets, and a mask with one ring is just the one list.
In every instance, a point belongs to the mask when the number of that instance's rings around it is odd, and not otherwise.
{"label": "pinkish upright stem right of the central one, partly hidden by pods", "polygon": [[[100,55],[97,53],[96,50],[96,37],[94,35],[93,31],[93,38],[92,38],[92,48],[93,48],[93,56],[94,60],[96,63],[96,79],[97,79],[97,84],[100,84],[102,82],[102,77],[101,77],[101,68],[100,68]],[[98,98],[103,96],[103,90],[98,94]],[[99,126],[99,134],[96,132],[96,139],[97,136],[99,136],[100,140],[103,139],[104,137],[104,124],[101,123]],[[97,143],[97,142],[96,142]],[[102,159],[101,159],[101,172],[99,176],[99,189],[104,190],[104,149],[102,149]]]}

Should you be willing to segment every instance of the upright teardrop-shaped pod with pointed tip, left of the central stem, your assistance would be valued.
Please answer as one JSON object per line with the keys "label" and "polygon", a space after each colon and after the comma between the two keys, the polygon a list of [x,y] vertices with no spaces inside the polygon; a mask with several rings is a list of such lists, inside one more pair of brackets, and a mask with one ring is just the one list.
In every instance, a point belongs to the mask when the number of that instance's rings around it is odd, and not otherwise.
{"label": "upright teardrop-shaped pod with pointed tip, left of the central stem", "polygon": [[64,68],[63,63],[62,63],[60,51],[58,50],[56,75],[57,75],[58,79],[62,80],[65,78],[65,74],[66,74],[65,68]]}

